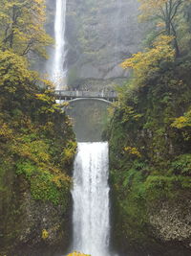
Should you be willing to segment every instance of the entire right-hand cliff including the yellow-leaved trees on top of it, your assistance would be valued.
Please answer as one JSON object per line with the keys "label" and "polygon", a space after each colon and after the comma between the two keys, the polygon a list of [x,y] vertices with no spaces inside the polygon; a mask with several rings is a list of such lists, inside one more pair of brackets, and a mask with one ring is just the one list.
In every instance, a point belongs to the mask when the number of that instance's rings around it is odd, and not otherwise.
{"label": "entire right-hand cliff including the yellow-leaved trees on top of it", "polygon": [[[109,130],[114,242],[124,254],[189,255],[191,6],[140,4],[154,29],[147,48],[121,64],[133,74]],[[161,24],[172,7],[170,25]]]}

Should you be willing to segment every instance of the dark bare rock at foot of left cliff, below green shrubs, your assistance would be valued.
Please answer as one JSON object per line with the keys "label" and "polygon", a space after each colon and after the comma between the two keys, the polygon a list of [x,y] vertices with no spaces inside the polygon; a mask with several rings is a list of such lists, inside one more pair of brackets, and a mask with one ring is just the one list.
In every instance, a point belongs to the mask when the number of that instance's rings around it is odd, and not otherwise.
{"label": "dark bare rock at foot of left cliff, below green shrubs", "polygon": [[71,239],[72,201],[66,213],[62,202],[54,205],[50,201],[34,200],[22,176],[16,178],[12,189],[10,208],[4,210],[6,223],[2,226],[5,236],[0,240],[1,252],[15,256],[63,254]]}

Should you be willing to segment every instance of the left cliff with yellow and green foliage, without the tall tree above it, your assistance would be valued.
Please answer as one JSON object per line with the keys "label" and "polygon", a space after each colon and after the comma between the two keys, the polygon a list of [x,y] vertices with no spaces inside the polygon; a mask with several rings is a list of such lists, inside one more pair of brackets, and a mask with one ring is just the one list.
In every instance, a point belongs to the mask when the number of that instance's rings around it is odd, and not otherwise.
{"label": "left cliff with yellow and green foliage, without the tall tree above it", "polygon": [[0,255],[61,255],[70,243],[73,128],[23,58],[7,55],[1,55],[10,80],[0,86]]}

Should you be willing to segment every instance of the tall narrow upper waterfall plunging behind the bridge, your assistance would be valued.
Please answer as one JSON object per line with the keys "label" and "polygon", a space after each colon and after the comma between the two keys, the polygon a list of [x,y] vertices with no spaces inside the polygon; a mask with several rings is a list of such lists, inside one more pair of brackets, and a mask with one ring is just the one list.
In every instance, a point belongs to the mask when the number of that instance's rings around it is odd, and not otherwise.
{"label": "tall narrow upper waterfall plunging behind the bridge", "polygon": [[66,25],[66,0],[56,0],[54,20],[55,49],[53,53],[52,81],[55,89],[61,89],[66,83],[67,68],[65,67],[65,26]]}

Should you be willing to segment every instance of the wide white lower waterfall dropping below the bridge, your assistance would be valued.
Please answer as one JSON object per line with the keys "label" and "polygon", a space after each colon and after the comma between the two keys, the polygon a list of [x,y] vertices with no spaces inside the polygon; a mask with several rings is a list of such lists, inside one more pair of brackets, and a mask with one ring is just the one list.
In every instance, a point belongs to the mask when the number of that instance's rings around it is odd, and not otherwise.
{"label": "wide white lower waterfall dropping below the bridge", "polygon": [[74,161],[74,250],[109,256],[108,143],[78,143]]}

